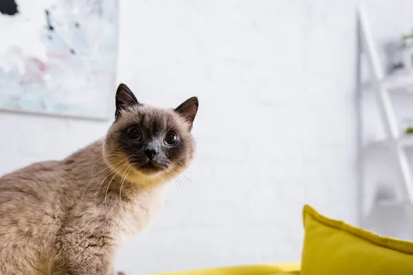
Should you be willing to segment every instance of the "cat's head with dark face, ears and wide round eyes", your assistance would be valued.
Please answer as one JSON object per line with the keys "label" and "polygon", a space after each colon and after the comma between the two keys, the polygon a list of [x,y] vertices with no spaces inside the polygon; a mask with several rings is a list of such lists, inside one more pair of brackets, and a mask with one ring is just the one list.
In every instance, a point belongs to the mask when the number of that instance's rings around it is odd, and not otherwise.
{"label": "cat's head with dark face, ears and wide round eyes", "polygon": [[151,107],[120,84],[115,122],[105,137],[105,161],[131,181],[172,179],[193,159],[191,129],[197,111],[198,98],[189,98],[175,109]]}

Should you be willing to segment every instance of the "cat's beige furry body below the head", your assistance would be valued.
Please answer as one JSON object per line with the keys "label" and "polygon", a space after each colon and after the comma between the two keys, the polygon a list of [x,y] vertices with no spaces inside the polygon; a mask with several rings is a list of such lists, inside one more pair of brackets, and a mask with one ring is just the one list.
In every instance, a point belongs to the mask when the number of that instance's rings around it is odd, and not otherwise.
{"label": "cat's beige furry body below the head", "polygon": [[95,142],[62,162],[32,164],[0,179],[0,261],[12,263],[0,274],[67,274],[75,268],[70,256],[85,249],[91,258],[100,254],[98,261],[86,256],[74,265],[109,274],[118,246],[156,217],[164,185],[125,181],[120,192],[122,175],[103,162],[102,147]]}

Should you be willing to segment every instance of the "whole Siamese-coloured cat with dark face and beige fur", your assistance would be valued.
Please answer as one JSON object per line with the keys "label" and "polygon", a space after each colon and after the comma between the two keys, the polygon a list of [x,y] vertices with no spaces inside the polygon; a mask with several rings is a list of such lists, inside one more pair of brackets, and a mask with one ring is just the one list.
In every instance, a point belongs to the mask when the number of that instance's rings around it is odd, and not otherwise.
{"label": "whole Siamese-coloured cat with dark face and beige fur", "polygon": [[156,217],[194,157],[198,98],[162,109],[120,84],[115,101],[105,138],[0,178],[0,274],[116,274],[116,250]]}

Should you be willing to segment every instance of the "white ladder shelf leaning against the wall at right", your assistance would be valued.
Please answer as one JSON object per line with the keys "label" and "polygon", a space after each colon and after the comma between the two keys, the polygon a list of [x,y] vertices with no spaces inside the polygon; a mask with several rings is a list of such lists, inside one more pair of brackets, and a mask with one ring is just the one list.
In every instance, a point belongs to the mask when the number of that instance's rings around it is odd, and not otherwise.
{"label": "white ladder shelf leaning against the wall at right", "polygon": [[[363,113],[361,107],[361,93],[366,86],[361,84],[361,66],[366,64],[370,72],[370,89],[374,91],[377,104],[379,105],[379,112],[381,120],[385,129],[385,140],[381,142],[374,142],[369,146],[381,146],[385,145],[390,148],[391,156],[394,158],[397,172],[401,179],[401,187],[403,188],[402,201],[395,201],[396,203],[409,203],[413,204],[413,179],[412,171],[410,169],[410,163],[407,159],[407,147],[413,148],[413,137],[401,135],[394,113],[390,94],[396,90],[403,90],[407,93],[411,93],[413,96],[413,75],[412,74],[396,74],[394,76],[385,76],[381,61],[379,58],[379,52],[374,43],[372,33],[370,31],[370,24],[366,11],[363,7],[358,9],[358,80],[359,80],[359,120],[361,120]],[[359,129],[360,131],[361,129]],[[360,131],[361,132],[361,131]],[[361,144],[361,137],[360,137]],[[363,158],[365,150],[359,148],[359,166],[363,169]],[[363,170],[360,170],[359,179],[360,184],[363,184]],[[361,213],[362,213],[361,209]]]}

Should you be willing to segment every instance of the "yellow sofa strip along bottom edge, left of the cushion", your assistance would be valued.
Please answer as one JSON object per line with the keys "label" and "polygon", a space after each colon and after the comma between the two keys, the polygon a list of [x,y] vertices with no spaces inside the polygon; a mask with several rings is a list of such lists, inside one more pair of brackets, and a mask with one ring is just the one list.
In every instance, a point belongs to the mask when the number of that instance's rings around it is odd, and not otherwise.
{"label": "yellow sofa strip along bottom edge, left of the cushion", "polygon": [[299,263],[271,263],[262,265],[240,265],[234,267],[216,267],[206,270],[184,272],[166,272],[149,275],[298,275]]}

